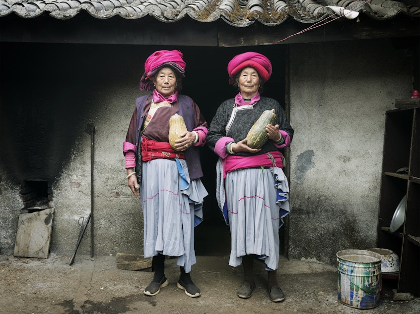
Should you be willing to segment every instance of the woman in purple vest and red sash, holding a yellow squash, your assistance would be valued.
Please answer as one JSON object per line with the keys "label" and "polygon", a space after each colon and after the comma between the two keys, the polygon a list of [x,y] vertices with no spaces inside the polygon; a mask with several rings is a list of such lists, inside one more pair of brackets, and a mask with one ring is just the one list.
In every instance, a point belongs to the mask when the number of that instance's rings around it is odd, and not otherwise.
{"label": "woman in purple vest and red sash, holding a yellow squash", "polygon": [[[196,262],[194,227],[203,218],[199,147],[206,143],[207,122],[189,97],[180,95],[185,62],[179,51],[157,51],[144,65],[140,90],[152,91],[137,99],[123,153],[128,185],[140,196],[144,220],[144,257],[153,257],[154,277],[144,294],[154,296],[169,282],[165,256],[177,257],[178,288],[189,297],[201,295],[190,277]],[[169,118],[184,118],[187,132],[169,144]]]}

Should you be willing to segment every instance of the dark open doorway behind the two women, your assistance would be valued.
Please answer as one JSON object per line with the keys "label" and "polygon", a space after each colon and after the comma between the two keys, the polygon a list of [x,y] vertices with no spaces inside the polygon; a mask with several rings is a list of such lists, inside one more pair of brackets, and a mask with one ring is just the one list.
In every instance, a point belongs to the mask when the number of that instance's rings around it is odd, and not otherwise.
{"label": "dark open doorway behind the two women", "polygon": [[[172,48],[173,49],[173,48]],[[266,55],[273,63],[273,75],[264,86],[264,96],[284,105],[286,48],[283,46],[258,46],[245,48],[181,47],[187,63],[182,94],[190,96],[210,124],[218,106],[234,98],[238,90],[229,85],[227,64],[238,53],[255,51]],[[284,107],[284,106],[283,106]],[[217,206],[215,189],[215,165],[217,156],[207,147],[201,154],[204,177],[209,196],[205,199],[204,220],[196,227],[197,255],[228,255],[230,232]],[[284,254],[284,227],[280,229],[280,254]]]}

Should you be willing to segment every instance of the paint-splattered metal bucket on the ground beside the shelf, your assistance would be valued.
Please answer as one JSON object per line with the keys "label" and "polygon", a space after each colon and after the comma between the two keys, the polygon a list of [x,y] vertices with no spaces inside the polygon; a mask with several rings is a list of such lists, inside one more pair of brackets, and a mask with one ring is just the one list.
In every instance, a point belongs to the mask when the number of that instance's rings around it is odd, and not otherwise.
{"label": "paint-splattered metal bucket on the ground beside the shelf", "polygon": [[381,259],[380,254],[365,250],[337,252],[338,301],[357,309],[377,307],[382,289]]}

